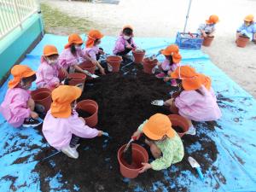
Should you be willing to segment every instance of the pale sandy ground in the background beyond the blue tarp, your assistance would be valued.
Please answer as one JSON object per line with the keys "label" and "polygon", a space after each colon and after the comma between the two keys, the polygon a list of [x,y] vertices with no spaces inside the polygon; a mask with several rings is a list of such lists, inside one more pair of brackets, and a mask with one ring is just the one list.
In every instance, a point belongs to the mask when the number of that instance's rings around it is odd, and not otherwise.
{"label": "pale sandy ground in the background beyond the blue tarp", "polygon": [[[67,15],[90,20],[106,35],[117,36],[125,24],[135,28],[137,37],[170,37],[183,31],[188,0],[120,0],[118,4],[68,2],[65,0],[41,0]],[[101,2],[101,1],[98,1]],[[192,2],[188,31],[195,32],[209,15],[220,18],[216,38],[210,48],[203,51],[211,56],[214,64],[231,79],[256,97],[256,45],[236,47],[236,28],[245,15],[254,14],[255,0],[197,0]],[[79,8],[79,9],[78,9]],[[62,30],[62,29],[61,29]],[[63,31],[63,30],[62,30]]]}

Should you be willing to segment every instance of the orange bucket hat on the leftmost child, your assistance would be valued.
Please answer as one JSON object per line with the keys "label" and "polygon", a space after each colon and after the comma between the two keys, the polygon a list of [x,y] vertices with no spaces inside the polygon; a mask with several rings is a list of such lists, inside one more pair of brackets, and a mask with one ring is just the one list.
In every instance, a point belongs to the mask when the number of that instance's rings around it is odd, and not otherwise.
{"label": "orange bucket hat on the leftmost child", "polygon": [[22,78],[28,78],[34,75],[36,72],[32,71],[30,67],[25,65],[15,65],[11,69],[11,74],[14,76],[14,79],[9,81],[9,88],[15,88],[17,84],[20,84]]}

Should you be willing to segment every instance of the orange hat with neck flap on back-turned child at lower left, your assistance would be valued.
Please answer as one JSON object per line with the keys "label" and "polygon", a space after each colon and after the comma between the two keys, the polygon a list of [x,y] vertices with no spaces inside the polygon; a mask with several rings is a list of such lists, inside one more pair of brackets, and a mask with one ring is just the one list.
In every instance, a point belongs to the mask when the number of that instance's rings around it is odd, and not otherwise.
{"label": "orange hat with neck flap on back-turned child at lower left", "polygon": [[71,115],[71,103],[81,96],[82,90],[76,86],[60,85],[51,92],[50,112],[55,118],[68,118]]}

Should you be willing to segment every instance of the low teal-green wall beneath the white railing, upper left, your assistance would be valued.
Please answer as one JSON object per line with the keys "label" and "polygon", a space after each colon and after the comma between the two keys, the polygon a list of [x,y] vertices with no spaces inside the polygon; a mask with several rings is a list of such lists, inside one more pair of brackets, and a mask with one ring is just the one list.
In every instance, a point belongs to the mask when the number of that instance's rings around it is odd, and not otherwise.
{"label": "low teal-green wall beneath the white railing, upper left", "polygon": [[15,65],[35,40],[43,34],[40,15],[32,15],[8,36],[0,40],[0,80]]}

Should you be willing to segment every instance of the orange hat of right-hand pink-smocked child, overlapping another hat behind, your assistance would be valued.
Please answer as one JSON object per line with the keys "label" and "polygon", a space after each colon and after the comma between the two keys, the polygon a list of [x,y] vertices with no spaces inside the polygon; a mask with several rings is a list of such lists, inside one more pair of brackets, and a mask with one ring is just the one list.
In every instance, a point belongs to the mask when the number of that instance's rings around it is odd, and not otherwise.
{"label": "orange hat of right-hand pink-smocked child, overlapping another hat behind", "polygon": [[181,79],[184,90],[197,90],[202,84],[200,74],[196,73],[195,69],[189,66],[177,67],[176,70],[171,73],[171,78]]}

